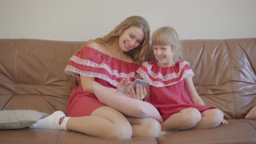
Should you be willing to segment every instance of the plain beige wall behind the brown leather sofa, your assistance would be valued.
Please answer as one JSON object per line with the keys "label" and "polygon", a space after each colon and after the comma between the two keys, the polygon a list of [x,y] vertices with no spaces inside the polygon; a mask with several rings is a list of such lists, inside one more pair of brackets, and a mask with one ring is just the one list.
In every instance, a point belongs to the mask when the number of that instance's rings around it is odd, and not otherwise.
{"label": "plain beige wall behind the brown leather sofa", "polygon": [[80,41],[101,37],[128,16],[181,39],[256,37],[256,0],[0,0],[0,38]]}

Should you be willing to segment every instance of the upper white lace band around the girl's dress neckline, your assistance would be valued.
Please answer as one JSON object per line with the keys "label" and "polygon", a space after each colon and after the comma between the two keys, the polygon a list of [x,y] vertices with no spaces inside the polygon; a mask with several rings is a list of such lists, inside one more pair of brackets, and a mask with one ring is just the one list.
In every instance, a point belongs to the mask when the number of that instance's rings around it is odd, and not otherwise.
{"label": "upper white lace band around the girl's dress neckline", "polygon": [[174,79],[174,78],[177,78],[177,77],[180,77],[180,75],[181,75],[181,70],[184,68],[184,66],[185,65],[189,65],[189,62],[187,62],[187,61],[182,61],[180,64],[179,64],[179,72],[178,73],[176,73],[176,72],[173,72],[173,73],[171,73],[171,74],[168,74],[168,75],[165,75],[165,76],[163,76],[161,73],[155,73],[155,72],[152,72],[152,65],[151,64],[148,64],[148,62],[146,61],[146,62],[144,62],[142,65],[144,66],[144,67],[146,67],[147,68],[147,70],[148,70],[148,73],[149,73],[149,75],[150,76],[152,76],[153,78],[160,78],[160,79],[162,79],[163,81],[168,81],[168,80],[171,80],[171,79]]}

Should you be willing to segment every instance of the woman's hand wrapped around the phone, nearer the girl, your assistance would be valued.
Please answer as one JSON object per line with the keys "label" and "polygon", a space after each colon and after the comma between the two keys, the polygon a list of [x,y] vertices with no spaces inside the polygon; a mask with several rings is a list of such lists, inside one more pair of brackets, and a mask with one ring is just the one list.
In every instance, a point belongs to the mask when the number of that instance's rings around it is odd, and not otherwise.
{"label": "woman's hand wrapped around the phone, nearer the girl", "polygon": [[142,100],[147,95],[146,88],[142,88],[141,85],[136,84],[136,92],[133,89],[133,85],[129,86],[130,97],[133,99]]}

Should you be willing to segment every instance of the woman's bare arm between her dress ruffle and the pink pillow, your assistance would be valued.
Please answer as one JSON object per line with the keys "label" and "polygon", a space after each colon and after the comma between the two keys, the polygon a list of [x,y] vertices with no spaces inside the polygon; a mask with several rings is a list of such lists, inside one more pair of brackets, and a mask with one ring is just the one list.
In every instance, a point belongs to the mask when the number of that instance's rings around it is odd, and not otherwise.
{"label": "woman's bare arm between her dress ruffle and the pink pillow", "polygon": [[[80,79],[81,79],[81,85],[82,85],[83,91],[88,91],[88,92],[94,94],[93,85],[98,85],[98,86],[101,86],[104,88],[108,88],[108,87],[105,87],[105,86],[97,83],[95,81],[94,77],[84,77],[83,75],[80,75]],[[110,91],[117,91],[117,89],[115,89],[115,88],[108,88],[108,89]]]}

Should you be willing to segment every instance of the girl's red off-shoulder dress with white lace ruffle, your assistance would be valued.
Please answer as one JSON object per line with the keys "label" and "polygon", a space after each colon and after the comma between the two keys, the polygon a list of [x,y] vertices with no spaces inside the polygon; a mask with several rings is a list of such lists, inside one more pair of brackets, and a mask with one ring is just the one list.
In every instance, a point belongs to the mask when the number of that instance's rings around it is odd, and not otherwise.
{"label": "girl's red off-shoulder dress with white lace ruffle", "polygon": [[163,120],[181,109],[194,107],[200,112],[215,107],[193,104],[185,88],[185,78],[194,76],[187,61],[178,61],[172,67],[160,67],[156,62],[144,62],[137,72],[150,85],[147,99],[159,111]]}

